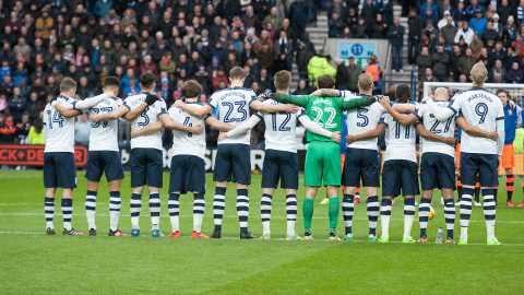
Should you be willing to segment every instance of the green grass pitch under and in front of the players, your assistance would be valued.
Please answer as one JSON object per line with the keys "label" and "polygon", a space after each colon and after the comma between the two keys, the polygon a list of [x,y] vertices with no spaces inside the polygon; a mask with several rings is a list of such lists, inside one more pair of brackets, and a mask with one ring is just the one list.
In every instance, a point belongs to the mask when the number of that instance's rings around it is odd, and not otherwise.
{"label": "green grass pitch under and in front of the players", "polygon": [[[75,227],[85,231],[85,180],[79,174]],[[167,184],[167,174],[165,175]],[[212,228],[214,186],[207,178],[204,232]],[[250,187],[250,227],[261,233],[260,176]],[[163,190],[164,233],[169,232],[167,189]],[[327,243],[326,206],[317,203],[315,240],[285,241],[284,196],[273,201],[273,240],[238,239],[235,190],[229,187],[222,240],[191,240],[191,200],[181,198],[179,240],[153,239],[144,197],[140,238],[106,236],[107,186],[98,193],[97,237],[44,235],[40,172],[0,172],[0,294],[522,294],[524,290],[524,210],[507,209],[504,191],[497,235],[502,246],[485,246],[484,217],[473,212],[469,246],[403,245],[402,205],[394,206],[388,245],[366,241],[366,208],[356,208],[356,243]],[[129,232],[129,177],[122,190],[121,227]],[[298,193],[299,208],[303,188]],[[516,200],[521,200],[519,191]],[[442,206],[430,221],[429,238],[443,226]],[[59,206],[56,211],[59,212]],[[301,234],[301,217],[297,231]],[[61,228],[61,215],[55,217]],[[418,223],[413,228],[418,235]],[[342,234],[342,216],[340,223]],[[380,229],[379,229],[380,231]],[[455,232],[455,237],[457,231]]]}

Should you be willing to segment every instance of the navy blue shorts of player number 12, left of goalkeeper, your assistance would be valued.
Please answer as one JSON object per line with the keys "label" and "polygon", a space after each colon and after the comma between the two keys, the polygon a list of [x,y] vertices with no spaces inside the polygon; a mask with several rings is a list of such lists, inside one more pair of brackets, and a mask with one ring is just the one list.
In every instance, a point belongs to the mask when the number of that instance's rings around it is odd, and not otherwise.
{"label": "navy blue shorts of player number 12, left of goalkeeper", "polygon": [[262,168],[262,188],[298,189],[297,153],[265,150]]}

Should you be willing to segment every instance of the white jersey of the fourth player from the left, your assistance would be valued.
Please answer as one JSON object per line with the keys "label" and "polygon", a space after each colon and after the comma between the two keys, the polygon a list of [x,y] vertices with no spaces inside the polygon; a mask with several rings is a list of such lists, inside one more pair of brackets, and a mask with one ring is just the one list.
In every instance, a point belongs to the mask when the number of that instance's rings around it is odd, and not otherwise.
{"label": "white jersey of the fourth player from the left", "polygon": [[[204,106],[202,106],[204,107]],[[190,115],[183,111],[181,108],[171,106],[169,108],[169,117],[183,126],[202,126],[204,127],[204,119]],[[194,155],[201,158],[205,158],[205,131],[200,134],[193,134],[190,132],[183,132],[172,130],[172,148],[170,150],[171,156],[174,155]]]}

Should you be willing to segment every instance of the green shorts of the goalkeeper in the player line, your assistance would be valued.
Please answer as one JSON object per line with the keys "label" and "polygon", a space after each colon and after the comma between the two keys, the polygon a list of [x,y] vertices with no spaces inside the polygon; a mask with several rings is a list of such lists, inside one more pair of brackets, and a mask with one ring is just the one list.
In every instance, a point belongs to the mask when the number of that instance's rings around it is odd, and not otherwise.
{"label": "green shorts of the goalkeeper in the player line", "polygon": [[306,154],[307,187],[341,186],[341,148],[338,143],[312,141]]}

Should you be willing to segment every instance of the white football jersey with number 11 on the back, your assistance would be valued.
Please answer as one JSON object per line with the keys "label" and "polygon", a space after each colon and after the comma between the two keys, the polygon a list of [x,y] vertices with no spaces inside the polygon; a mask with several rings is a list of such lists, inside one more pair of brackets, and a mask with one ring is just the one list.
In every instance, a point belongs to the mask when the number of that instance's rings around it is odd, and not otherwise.
{"label": "white football jersey with number 11 on the back", "polygon": [[385,125],[385,153],[384,161],[407,160],[417,162],[416,140],[417,134],[414,125],[403,126],[395,121],[390,114],[382,116]]}

